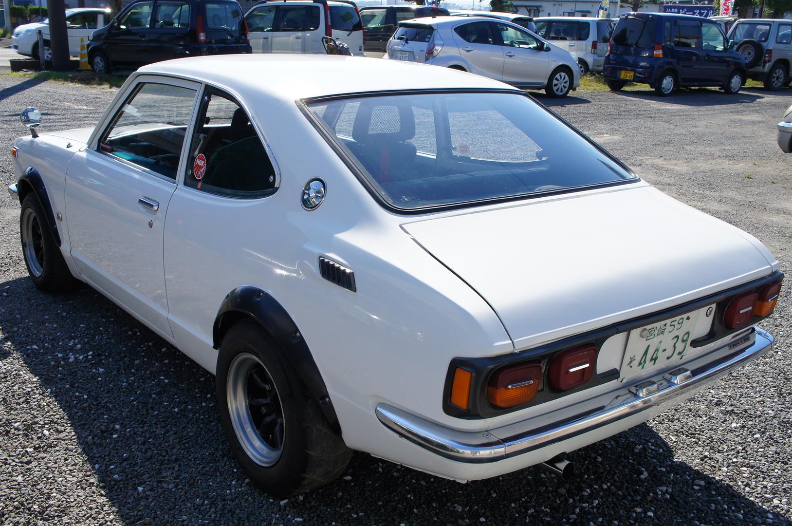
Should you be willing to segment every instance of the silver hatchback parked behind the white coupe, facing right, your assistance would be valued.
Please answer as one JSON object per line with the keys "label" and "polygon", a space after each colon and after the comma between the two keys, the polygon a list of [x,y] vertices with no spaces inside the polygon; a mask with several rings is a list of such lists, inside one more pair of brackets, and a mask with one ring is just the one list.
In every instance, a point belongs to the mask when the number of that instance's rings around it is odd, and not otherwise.
{"label": "silver hatchback parked behind the white coupe, facing right", "polygon": [[470,71],[524,89],[566,97],[581,83],[577,57],[508,21],[485,17],[400,22],[384,59]]}

